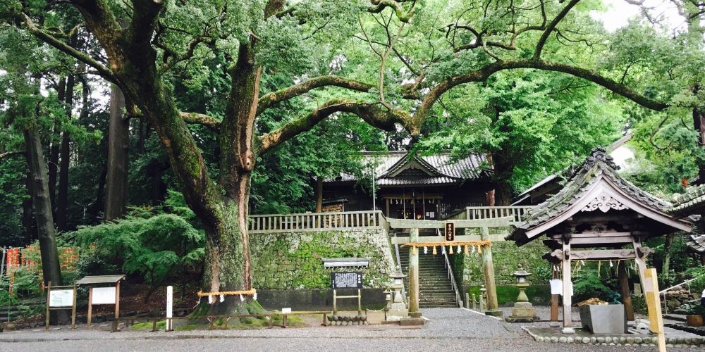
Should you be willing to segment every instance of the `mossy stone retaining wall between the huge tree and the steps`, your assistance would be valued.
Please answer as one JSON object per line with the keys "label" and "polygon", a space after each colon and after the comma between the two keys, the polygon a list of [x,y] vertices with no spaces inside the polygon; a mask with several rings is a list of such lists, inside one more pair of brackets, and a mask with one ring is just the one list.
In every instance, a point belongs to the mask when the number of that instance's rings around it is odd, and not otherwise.
{"label": "mossy stone retaining wall between the huge tree and the steps", "polygon": [[394,271],[385,230],[338,230],[252,234],[252,283],[256,289],[329,289],[331,269],[321,258],[371,258],[362,271],[364,287],[386,287]]}

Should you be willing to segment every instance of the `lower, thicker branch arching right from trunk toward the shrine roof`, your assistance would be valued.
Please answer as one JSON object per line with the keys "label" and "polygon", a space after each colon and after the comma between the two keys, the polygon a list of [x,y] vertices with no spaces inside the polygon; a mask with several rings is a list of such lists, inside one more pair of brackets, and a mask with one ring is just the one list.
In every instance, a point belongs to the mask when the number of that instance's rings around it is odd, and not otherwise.
{"label": "lower, thicker branch arching right from trunk toward the shrine roof", "polygon": [[277,130],[260,137],[259,155],[266,153],[302,132],[311,130],[318,122],[338,112],[353,113],[370,125],[382,130],[394,130],[395,123],[400,123],[407,128],[407,130],[418,130],[418,127],[410,124],[410,115],[403,111],[388,110],[381,106],[381,104],[360,103],[346,99],[332,99],[326,101],[326,103],[311,113],[287,122]]}

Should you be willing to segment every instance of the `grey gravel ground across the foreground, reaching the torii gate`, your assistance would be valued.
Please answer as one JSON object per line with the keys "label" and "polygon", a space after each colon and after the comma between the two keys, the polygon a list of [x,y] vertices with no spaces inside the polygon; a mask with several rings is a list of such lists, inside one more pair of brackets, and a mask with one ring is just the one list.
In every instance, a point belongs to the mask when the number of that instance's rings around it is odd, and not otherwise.
{"label": "grey gravel ground across the foreground, reaching the torii gate", "polygon": [[[654,351],[640,346],[538,343],[520,324],[460,308],[424,309],[423,313],[429,321],[422,328],[364,325],[169,333],[9,332],[0,334],[0,351]],[[544,323],[534,325],[538,324]]]}

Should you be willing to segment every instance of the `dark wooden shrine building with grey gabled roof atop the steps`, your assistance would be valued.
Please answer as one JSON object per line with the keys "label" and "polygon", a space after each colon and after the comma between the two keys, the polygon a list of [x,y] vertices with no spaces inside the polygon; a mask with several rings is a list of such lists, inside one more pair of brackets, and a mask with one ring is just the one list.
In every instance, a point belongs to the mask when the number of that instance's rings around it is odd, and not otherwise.
{"label": "dark wooden shrine building with grey gabled roof atop the steps", "polygon": [[454,161],[448,153],[366,153],[362,165],[369,166],[365,180],[341,174],[322,182],[323,211],[372,210],[374,203],[387,218],[441,220],[466,206],[486,205],[486,193],[494,189],[482,154]]}

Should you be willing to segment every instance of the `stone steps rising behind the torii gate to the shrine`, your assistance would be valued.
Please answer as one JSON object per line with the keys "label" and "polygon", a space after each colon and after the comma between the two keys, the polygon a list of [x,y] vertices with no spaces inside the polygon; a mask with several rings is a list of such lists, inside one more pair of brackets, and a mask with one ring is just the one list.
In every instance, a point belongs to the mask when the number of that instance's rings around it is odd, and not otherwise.
{"label": "stone steps rising behind the torii gate to the shrine", "polygon": [[[399,247],[399,260],[402,272],[409,275],[409,247]],[[408,277],[404,287],[408,294]],[[458,308],[443,255],[432,255],[430,248],[427,254],[419,249],[419,308]]]}

